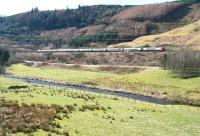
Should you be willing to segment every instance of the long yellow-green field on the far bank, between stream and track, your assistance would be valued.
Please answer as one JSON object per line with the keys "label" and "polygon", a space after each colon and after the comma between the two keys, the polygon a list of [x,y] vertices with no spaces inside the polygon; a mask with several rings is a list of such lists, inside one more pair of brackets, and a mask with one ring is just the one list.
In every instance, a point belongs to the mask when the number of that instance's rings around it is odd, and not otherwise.
{"label": "long yellow-green field on the far bank, between stream and track", "polygon": [[179,79],[170,76],[169,72],[164,70],[113,74],[62,68],[37,68],[18,64],[9,67],[8,72],[16,76],[55,80],[167,98],[183,104],[200,104],[200,77]]}

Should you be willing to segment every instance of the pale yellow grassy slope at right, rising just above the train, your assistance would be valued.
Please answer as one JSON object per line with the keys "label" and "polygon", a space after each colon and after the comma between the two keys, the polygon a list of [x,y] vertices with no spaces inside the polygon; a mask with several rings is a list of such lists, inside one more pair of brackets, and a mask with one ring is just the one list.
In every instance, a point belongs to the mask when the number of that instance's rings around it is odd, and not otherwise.
{"label": "pale yellow grassy slope at right, rising just above the train", "polygon": [[111,45],[110,47],[138,47],[171,45],[200,49],[200,20],[158,35],[143,36],[132,42]]}

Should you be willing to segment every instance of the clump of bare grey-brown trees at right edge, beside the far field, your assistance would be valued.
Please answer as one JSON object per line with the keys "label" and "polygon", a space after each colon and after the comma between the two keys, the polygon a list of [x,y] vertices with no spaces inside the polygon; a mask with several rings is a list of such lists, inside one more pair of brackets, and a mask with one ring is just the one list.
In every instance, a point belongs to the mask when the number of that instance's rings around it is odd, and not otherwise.
{"label": "clump of bare grey-brown trees at right edge, beside the far field", "polygon": [[164,56],[163,66],[180,78],[200,76],[200,52],[183,49]]}

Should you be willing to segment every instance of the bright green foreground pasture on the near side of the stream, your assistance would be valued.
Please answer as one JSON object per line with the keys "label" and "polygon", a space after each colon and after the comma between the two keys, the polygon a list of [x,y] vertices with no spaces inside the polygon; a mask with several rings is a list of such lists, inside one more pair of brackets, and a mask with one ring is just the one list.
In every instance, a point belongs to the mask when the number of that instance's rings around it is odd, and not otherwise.
{"label": "bright green foreground pasture on the near side of the stream", "polygon": [[[65,116],[65,113],[61,112],[60,118],[53,120],[59,127],[52,135],[63,135],[64,131],[73,136],[198,136],[200,134],[200,113],[195,107],[160,106],[75,90],[49,89],[3,77],[0,80],[0,94],[6,101],[18,101],[29,105],[37,103],[74,106],[75,110],[72,113]],[[27,88],[8,89],[13,85],[27,86]],[[45,136],[49,135],[49,132],[38,129],[29,134]]]}

